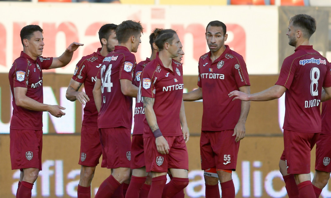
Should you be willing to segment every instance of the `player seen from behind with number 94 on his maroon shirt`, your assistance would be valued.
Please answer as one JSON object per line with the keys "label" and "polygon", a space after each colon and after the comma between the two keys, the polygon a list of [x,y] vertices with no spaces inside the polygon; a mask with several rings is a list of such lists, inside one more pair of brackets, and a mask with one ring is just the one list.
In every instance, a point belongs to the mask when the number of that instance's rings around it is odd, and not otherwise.
{"label": "player seen from behind with number 94 on his maroon shirt", "polygon": [[138,92],[138,87],[132,84],[136,59],[131,52],[137,52],[142,31],[141,24],[132,20],[118,25],[118,46],[104,58],[94,85],[102,155],[107,168],[112,169],[96,198],[112,196],[130,175],[132,97],[137,97]]}

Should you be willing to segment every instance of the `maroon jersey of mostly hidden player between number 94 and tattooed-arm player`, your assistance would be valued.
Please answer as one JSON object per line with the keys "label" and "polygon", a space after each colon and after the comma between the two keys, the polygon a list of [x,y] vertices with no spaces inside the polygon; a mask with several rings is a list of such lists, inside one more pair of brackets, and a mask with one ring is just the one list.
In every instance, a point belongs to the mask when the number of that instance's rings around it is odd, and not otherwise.
{"label": "maroon jersey of mostly hidden player between number 94 and tattooed-arm player", "polygon": [[[137,64],[136,68],[134,69],[134,79],[133,84],[139,87],[140,85],[140,76],[147,65],[147,63],[151,62],[149,58],[146,58],[146,60],[141,61]],[[139,94],[140,92],[138,92]],[[136,98],[136,106],[134,108],[134,127],[133,127],[133,134],[143,134],[144,132],[144,119],[145,119],[145,112],[144,112],[144,103],[142,101],[141,94],[138,95]]]}

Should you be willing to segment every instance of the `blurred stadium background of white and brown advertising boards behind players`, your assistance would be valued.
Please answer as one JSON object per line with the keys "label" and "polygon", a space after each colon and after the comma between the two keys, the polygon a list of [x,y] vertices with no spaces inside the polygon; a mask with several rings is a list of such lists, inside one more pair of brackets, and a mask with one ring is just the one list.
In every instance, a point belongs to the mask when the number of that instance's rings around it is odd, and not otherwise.
{"label": "blurred stadium background of white and brown advertising boards behind players", "polygon": [[[255,5],[228,5],[238,2]],[[287,7],[289,5],[293,6]],[[327,6],[331,6],[327,0],[142,0],[138,3],[121,0],[121,4],[35,0],[0,2],[0,197],[15,197],[19,179],[19,171],[12,171],[10,166],[8,133],[12,106],[8,71],[22,50],[19,33],[25,25],[39,24],[44,29],[45,57],[61,55],[73,41],[85,44],[74,53],[68,66],[47,71],[43,78],[44,102],[59,104],[67,109],[66,115],[61,118],[50,116],[49,113],[43,115],[43,171],[39,174],[32,195],[38,198],[69,198],[77,196],[83,107],[77,102],[68,101],[65,92],[80,57],[100,46],[97,32],[102,24],[119,24],[127,19],[143,24],[145,31],[142,43],[135,54],[137,62],[150,56],[148,36],[153,28],[177,30],[185,52],[184,88],[185,91],[191,91],[197,88],[198,58],[208,51],[204,37],[206,25],[209,21],[220,20],[227,25],[229,36],[225,44],[245,58],[252,84],[251,92],[254,93],[276,82],[283,59],[293,53],[294,48],[288,45],[285,34],[289,18],[295,14],[306,13],[316,18],[317,31],[311,38],[311,44],[331,60],[331,9]],[[202,103],[185,102],[185,109],[191,137],[187,143],[190,183],[184,192],[186,198],[202,198],[205,193],[199,154]],[[233,173],[236,197],[287,197],[278,171],[283,150],[283,119],[283,97],[251,103],[246,137],[241,141],[237,171]],[[314,157],[313,149],[312,173]],[[92,197],[109,174],[110,170],[97,167],[92,182]],[[321,197],[331,197],[329,185],[323,189]]]}

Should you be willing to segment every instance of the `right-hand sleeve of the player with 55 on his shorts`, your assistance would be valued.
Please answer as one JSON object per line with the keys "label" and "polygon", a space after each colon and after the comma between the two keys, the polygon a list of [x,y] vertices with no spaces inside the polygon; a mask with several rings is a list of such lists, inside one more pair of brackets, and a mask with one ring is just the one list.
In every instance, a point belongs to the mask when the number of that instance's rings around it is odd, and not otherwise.
{"label": "right-hand sleeve of the player with 55 on his shorts", "polygon": [[238,87],[244,85],[251,85],[249,82],[249,76],[247,72],[247,67],[244,59],[240,56],[237,57],[238,62],[234,64],[232,68],[234,79]]}

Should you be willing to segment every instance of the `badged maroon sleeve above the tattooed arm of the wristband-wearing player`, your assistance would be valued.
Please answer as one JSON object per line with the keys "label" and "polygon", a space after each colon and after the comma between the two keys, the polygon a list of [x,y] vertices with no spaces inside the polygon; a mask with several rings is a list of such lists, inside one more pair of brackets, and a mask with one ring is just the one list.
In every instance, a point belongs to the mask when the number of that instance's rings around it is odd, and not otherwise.
{"label": "badged maroon sleeve above the tattooed arm of the wristband-wearing player", "polygon": [[[157,79],[155,79],[155,70],[147,65],[141,74],[141,96],[155,98]],[[152,83],[152,80],[155,80]]]}

